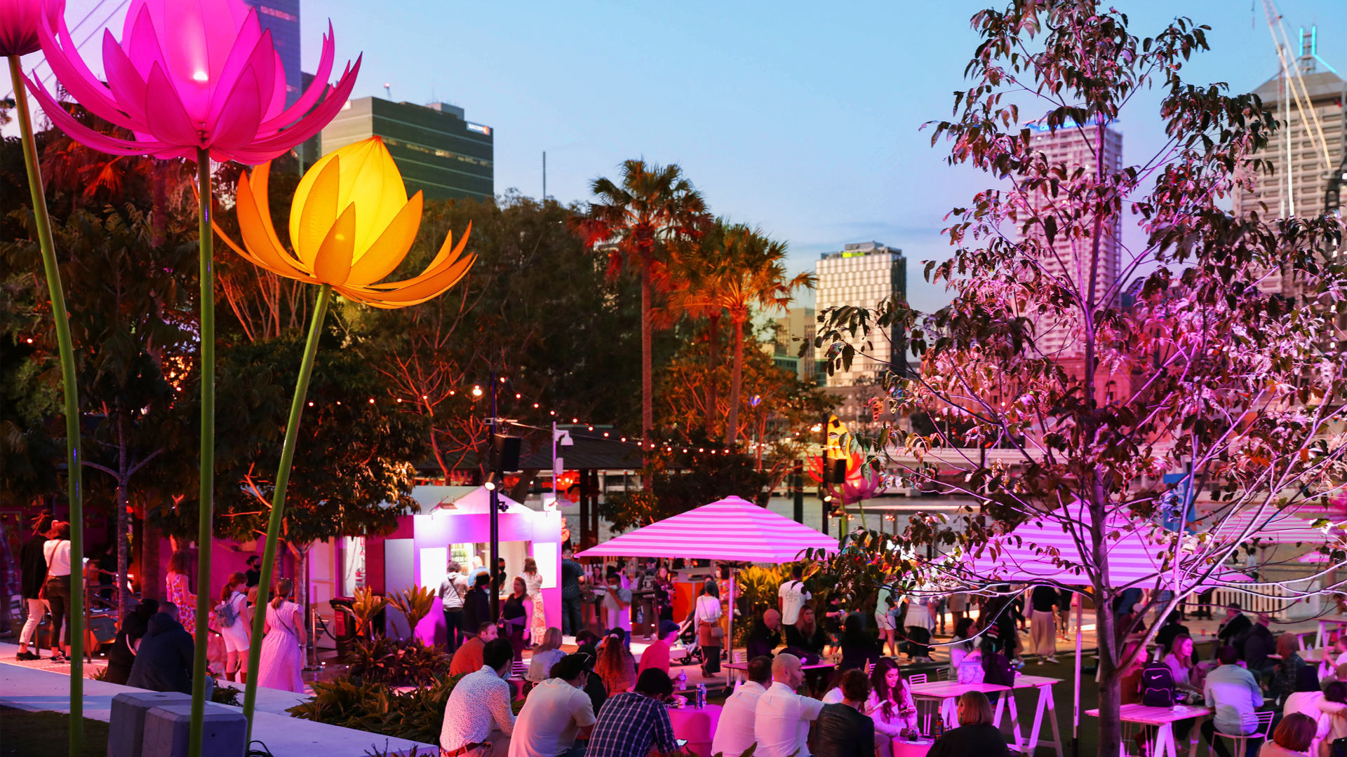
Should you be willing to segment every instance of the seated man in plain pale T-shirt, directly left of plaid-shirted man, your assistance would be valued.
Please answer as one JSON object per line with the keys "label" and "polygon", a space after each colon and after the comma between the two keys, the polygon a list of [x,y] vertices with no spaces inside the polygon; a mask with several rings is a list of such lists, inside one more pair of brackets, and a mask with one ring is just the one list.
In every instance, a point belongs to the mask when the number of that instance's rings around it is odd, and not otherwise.
{"label": "seated man in plain pale T-shirt, directly left of plaid-shirted man", "polygon": [[581,757],[594,729],[594,704],[585,694],[593,659],[567,655],[552,665],[551,678],[533,687],[515,721],[509,757]]}

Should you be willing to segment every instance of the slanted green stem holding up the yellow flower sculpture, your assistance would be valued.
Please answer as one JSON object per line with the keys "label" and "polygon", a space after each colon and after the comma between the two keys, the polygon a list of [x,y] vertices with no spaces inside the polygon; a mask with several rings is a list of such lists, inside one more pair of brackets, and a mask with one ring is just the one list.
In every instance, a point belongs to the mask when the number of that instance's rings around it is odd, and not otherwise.
{"label": "slanted green stem holding up the yellow flower sculpture", "polygon": [[286,443],[280,449],[280,466],[276,469],[276,489],[271,496],[271,519],[267,521],[267,547],[261,555],[261,582],[257,585],[257,609],[253,612],[252,638],[248,645],[248,683],[244,684],[244,717],[248,718],[248,741],[252,741],[253,704],[257,700],[257,672],[261,665],[261,629],[267,618],[267,601],[271,597],[271,577],[276,567],[276,543],[280,541],[280,521],[286,515],[286,486],[290,484],[290,467],[295,461],[295,442],[299,438],[299,420],[304,414],[304,397],[308,396],[308,377],[314,372],[314,356],[318,354],[318,338],[323,331],[323,318],[327,315],[327,302],[331,299],[331,284],[318,290],[318,303],[314,306],[314,319],[308,325],[308,339],[304,342],[304,357],[299,362],[299,380],[295,381],[295,397],[290,401],[290,420],[286,423]]}

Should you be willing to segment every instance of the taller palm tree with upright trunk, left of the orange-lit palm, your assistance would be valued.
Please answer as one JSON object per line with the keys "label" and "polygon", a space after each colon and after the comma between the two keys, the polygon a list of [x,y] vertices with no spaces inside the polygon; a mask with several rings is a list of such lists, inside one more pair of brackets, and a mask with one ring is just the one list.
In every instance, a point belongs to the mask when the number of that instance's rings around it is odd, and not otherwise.
{"label": "taller palm tree with upright trunk, left of the orange-lit palm", "polygon": [[[663,275],[672,251],[694,242],[707,224],[706,201],[676,164],[655,166],[644,160],[622,163],[617,182],[598,178],[590,183],[595,202],[577,222],[587,245],[605,242],[609,273],[622,265],[641,273],[641,438],[651,439],[655,426],[652,387],[651,310],[653,283]],[[645,449],[643,446],[643,449]],[[647,481],[647,489],[649,489]]]}

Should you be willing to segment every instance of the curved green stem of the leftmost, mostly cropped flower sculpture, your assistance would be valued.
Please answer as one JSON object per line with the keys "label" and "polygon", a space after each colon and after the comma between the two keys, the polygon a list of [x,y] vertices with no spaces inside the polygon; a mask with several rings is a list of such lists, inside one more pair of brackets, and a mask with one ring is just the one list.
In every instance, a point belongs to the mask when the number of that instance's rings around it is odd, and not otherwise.
{"label": "curved green stem of the leftmost, mostly cropped flower sculpture", "polygon": [[[62,393],[66,403],[66,488],[70,500],[70,554],[84,554],[84,473],[79,453],[79,395],[75,389],[75,356],[70,341],[70,317],[66,314],[66,294],[61,286],[61,268],[51,242],[51,217],[47,216],[47,195],[38,168],[38,145],[32,141],[32,120],[28,116],[28,92],[23,88],[19,57],[9,55],[9,81],[15,82],[15,109],[19,112],[19,135],[23,140],[23,166],[28,170],[28,191],[32,194],[32,214],[38,221],[38,245],[42,248],[42,268],[47,275],[47,295],[51,298],[51,319],[57,323],[57,349],[61,354]],[[84,754],[84,572],[70,571],[70,756]],[[55,647],[53,640],[53,647]]]}

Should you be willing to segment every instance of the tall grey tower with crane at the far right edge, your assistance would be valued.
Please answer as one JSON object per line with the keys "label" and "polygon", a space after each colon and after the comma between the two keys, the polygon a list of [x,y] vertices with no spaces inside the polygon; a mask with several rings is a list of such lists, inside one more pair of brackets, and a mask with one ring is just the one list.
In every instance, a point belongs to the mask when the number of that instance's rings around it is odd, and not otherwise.
{"label": "tall grey tower with crane at the far right edge", "polygon": [[[1270,218],[1290,218],[1336,210],[1334,205],[1347,178],[1347,109],[1343,108],[1347,82],[1319,57],[1315,28],[1301,30],[1300,50],[1284,54],[1297,54],[1300,77],[1282,71],[1254,90],[1263,109],[1281,124],[1258,154],[1273,170],[1253,176],[1251,191],[1235,193],[1237,214],[1258,211]],[[1258,288],[1290,294],[1288,284],[1274,272],[1262,277]]]}

